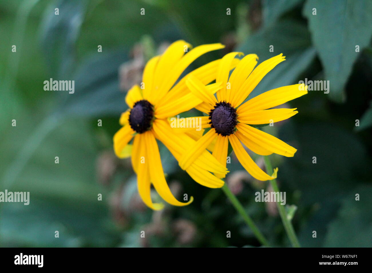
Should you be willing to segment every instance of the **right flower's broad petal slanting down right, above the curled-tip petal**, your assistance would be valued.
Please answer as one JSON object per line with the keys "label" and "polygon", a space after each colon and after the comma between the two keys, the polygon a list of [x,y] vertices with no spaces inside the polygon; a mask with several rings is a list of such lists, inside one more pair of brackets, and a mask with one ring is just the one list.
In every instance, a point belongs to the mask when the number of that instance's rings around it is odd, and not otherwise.
{"label": "right flower's broad petal slanting down right, above the curled-tip petal", "polygon": [[297,151],[294,147],[289,146],[287,143],[282,140],[265,133],[259,129],[256,129],[252,126],[249,126],[244,123],[238,123],[236,126],[237,129],[252,142],[257,145],[264,147],[264,149],[269,150],[270,152],[277,153],[282,156],[294,156]]}

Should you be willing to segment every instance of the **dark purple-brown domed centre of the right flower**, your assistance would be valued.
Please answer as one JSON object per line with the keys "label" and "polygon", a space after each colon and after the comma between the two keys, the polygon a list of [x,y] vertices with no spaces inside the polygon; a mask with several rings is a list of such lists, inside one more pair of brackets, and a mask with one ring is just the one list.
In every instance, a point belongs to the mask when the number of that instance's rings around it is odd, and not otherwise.
{"label": "dark purple-brown domed centre of the right flower", "polygon": [[238,124],[236,109],[230,103],[220,101],[209,112],[211,127],[216,130],[217,134],[230,136],[235,132],[235,126]]}

